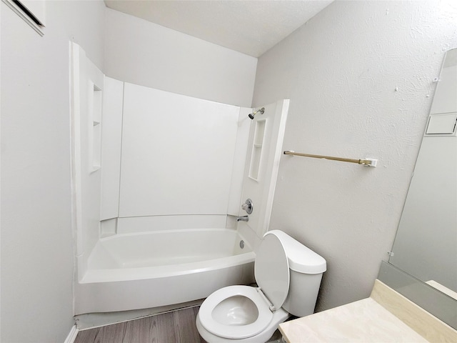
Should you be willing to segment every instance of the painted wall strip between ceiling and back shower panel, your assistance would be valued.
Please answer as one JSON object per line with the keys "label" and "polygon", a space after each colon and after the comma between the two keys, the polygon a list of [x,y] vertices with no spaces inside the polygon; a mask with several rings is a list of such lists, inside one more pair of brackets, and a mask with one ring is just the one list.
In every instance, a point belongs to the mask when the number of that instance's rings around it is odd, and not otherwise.
{"label": "painted wall strip between ceiling and back shower panel", "polygon": [[257,59],[106,9],[105,74],[114,79],[250,107]]}

